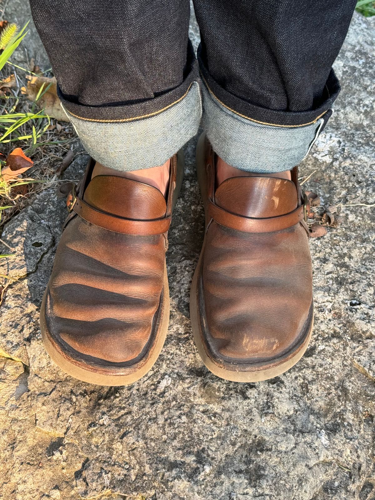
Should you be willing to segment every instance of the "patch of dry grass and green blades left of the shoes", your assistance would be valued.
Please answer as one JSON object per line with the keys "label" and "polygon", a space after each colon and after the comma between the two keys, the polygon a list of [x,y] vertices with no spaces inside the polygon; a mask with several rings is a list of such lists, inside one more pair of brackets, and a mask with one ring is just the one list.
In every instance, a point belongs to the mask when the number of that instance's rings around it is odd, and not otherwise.
{"label": "patch of dry grass and green blades left of the shoes", "polygon": [[[0,167],[5,166],[9,153],[19,147],[33,162],[25,173],[14,178],[2,176],[0,171],[0,236],[3,225],[32,203],[36,193],[63,182],[58,168],[64,157],[68,155],[71,159],[72,151],[81,151],[70,123],[57,122],[45,115],[38,109],[37,102],[31,102],[22,93],[22,87],[27,84],[26,76],[34,72],[38,74],[39,69],[15,67],[9,63],[0,70]],[[10,115],[15,113],[18,114],[12,118]],[[15,128],[17,124],[20,126]],[[4,242],[0,238],[0,262],[5,263],[5,267],[8,258],[14,258],[11,241]],[[16,280],[16,277],[0,274],[0,305],[7,288]]]}

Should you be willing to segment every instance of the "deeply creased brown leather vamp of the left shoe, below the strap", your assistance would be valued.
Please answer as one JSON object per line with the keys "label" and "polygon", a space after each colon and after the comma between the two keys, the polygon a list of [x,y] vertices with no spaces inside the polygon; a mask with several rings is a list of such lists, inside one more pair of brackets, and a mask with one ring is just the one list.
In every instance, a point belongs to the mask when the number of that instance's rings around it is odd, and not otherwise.
{"label": "deeply creased brown leather vamp of the left shoe, below the strap", "polygon": [[53,335],[100,359],[136,358],[151,335],[164,261],[162,234],[119,234],[74,217],[49,281],[46,316]]}

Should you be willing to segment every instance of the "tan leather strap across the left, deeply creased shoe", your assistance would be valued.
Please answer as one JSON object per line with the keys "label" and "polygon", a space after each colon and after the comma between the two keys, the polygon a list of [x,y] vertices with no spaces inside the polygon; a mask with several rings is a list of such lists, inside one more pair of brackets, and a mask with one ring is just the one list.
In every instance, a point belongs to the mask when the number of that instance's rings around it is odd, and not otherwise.
{"label": "tan leather strap across the left, deeply creased shoe", "polygon": [[137,234],[150,236],[162,234],[169,229],[171,217],[152,220],[134,220],[118,217],[110,213],[96,210],[80,198],[76,198],[71,209],[87,222],[103,227],[108,231],[120,232],[122,234]]}

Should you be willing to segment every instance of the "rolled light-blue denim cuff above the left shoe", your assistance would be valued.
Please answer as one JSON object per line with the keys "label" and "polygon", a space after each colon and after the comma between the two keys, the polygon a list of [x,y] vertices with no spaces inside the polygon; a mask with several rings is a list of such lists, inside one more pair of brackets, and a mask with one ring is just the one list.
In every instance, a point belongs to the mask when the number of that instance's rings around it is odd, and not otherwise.
{"label": "rolled light-blue denim cuff above the left shoe", "polygon": [[181,85],[135,104],[86,106],[59,97],[88,154],[125,172],[165,163],[197,133],[202,113],[195,64]]}

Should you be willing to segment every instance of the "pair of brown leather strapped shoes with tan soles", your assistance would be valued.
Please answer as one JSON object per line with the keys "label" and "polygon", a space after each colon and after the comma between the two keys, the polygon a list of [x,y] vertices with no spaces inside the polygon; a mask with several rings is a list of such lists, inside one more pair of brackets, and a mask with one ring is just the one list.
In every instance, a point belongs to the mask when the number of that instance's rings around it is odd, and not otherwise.
{"label": "pair of brown leather strapped shoes with tan soles", "polygon": [[[204,135],[196,157],[206,224],[190,293],[198,352],[228,380],[276,376],[301,357],[312,329],[307,206],[297,169],[292,180],[233,177],[215,188],[215,155]],[[93,164],[67,197],[40,326],[66,373],[125,385],[151,368],[165,340],[165,251],[183,153],[171,159],[166,199],[124,177],[91,179]]]}

